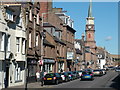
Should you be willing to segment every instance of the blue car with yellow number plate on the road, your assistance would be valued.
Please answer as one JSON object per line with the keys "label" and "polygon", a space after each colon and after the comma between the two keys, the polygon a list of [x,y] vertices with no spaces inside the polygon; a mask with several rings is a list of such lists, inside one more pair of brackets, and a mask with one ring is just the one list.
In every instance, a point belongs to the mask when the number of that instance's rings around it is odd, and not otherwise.
{"label": "blue car with yellow number plate on the road", "polygon": [[94,76],[90,71],[83,71],[81,75],[81,80],[93,80]]}

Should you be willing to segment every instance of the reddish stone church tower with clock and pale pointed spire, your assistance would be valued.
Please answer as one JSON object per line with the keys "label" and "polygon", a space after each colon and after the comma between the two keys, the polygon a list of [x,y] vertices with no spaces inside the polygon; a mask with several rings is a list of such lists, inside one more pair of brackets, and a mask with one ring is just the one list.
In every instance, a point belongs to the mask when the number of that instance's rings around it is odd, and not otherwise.
{"label": "reddish stone church tower with clock and pale pointed spire", "polygon": [[95,41],[95,25],[94,17],[92,16],[92,0],[90,0],[88,17],[86,18],[86,30],[85,30],[85,47],[87,49],[85,60],[89,67],[93,67],[96,61],[96,41]]}

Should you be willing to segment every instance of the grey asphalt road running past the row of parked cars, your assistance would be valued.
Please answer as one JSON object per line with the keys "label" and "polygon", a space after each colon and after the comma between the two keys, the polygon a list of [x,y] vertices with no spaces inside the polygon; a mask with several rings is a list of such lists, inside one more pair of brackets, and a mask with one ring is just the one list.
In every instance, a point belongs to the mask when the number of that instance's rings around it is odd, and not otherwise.
{"label": "grey asphalt road running past the row of parked cars", "polygon": [[118,75],[118,72],[108,71],[104,76],[94,77],[93,81],[81,81],[80,79],[76,79],[58,85],[45,85],[44,88],[113,88],[120,90],[120,85],[118,85],[120,78],[118,80]]}

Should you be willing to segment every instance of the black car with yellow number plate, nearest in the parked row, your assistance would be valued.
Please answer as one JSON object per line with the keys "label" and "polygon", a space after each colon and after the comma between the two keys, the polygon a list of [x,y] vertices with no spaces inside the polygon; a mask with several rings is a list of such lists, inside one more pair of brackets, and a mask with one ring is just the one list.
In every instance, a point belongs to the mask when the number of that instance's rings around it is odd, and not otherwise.
{"label": "black car with yellow number plate, nearest in the parked row", "polygon": [[48,73],[44,76],[44,84],[58,84],[62,82],[62,77],[58,73]]}

